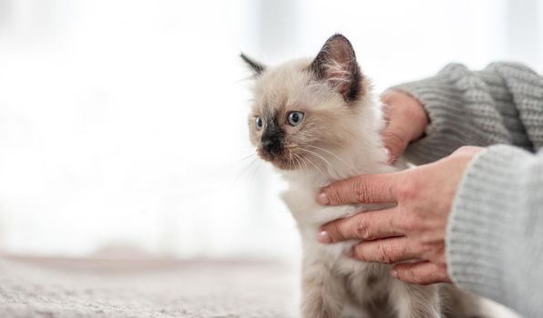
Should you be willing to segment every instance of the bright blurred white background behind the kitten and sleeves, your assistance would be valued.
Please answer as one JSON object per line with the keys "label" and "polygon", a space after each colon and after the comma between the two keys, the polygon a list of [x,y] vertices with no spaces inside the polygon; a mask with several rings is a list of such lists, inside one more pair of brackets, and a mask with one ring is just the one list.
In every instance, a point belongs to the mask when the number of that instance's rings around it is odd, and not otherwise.
{"label": "bright blurred white background behind the kitten and sleeves", "polygon": [[378,90],[450,62],[543,70],[538,0],[0,0],[0,252],[285,257],[298,237],[243,158],[248,73],[341,32]]}

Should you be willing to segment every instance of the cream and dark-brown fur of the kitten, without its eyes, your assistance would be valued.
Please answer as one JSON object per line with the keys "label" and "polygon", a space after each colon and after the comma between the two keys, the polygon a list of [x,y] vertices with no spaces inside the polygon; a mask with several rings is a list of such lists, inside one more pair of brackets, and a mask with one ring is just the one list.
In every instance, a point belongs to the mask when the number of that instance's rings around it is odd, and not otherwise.
{"label": "cream and dark-brown fur of the kitten, without its eyes", "polygon": [[[345,256],[356,241],[324,245],[316,237],[322,224],[375,209],[370,204],[322,206],[315,202],[324,184],[359,174],[394,172],[379,132],[382,107],[361,73],[352,45],[333,35],[312,60],[267,68],[241,55],[255,73],[249,117],[251,142],[289,183],[283,194],[302,235],[302,316],[441,317],[437,286],[393,279],[390,266]],[[288,123],[302,112],[301,124]],[[262,127],[257,127],[257,118]],[[262,143],[264,145],[262,145]],[[476,300],[449,288],[466,307]],[[457,306],[451,317],[469,317]]]}

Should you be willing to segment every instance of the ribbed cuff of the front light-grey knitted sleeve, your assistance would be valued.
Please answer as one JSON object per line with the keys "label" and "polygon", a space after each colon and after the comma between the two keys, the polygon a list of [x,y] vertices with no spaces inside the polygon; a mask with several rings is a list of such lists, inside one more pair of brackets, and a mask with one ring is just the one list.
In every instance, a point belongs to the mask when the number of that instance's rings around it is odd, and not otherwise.
{"label": "ribbed cuff of the front light-grey knitted sleeve", "polygon": [[509,305],[507,291],[517,283],[504,272],[507,264],[518,262],[511,251],[518,251],[516,239],[525,232],[518,211],[522,187],[518,164],[529,157],[507,145],[477,154],[458,186],[446,229],[447,271],[453,283]]}

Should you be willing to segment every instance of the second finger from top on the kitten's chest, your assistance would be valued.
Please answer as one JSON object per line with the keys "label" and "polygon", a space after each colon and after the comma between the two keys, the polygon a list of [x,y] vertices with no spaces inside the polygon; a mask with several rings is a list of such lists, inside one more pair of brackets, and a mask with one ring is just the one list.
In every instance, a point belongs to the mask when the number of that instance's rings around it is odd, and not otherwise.
{"label": "second finger from top on the kitten's chest", "polygon": [[350,239],[374,240],[402,235],[393,209],[369,211],[324,224],[318,235],[321,243],[335,243]]}

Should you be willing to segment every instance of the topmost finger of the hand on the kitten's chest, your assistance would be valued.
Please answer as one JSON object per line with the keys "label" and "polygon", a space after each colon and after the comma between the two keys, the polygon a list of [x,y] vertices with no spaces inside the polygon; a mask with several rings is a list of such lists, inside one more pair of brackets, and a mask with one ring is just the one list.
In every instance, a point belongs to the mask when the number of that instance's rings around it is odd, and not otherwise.
{"label": "topmost finger of the hand on the kitten's chest", "polygon": [[336,181],[317,195],[319,204],[384,204],[395,203],[397,176],[394,174],[365,174]]}

